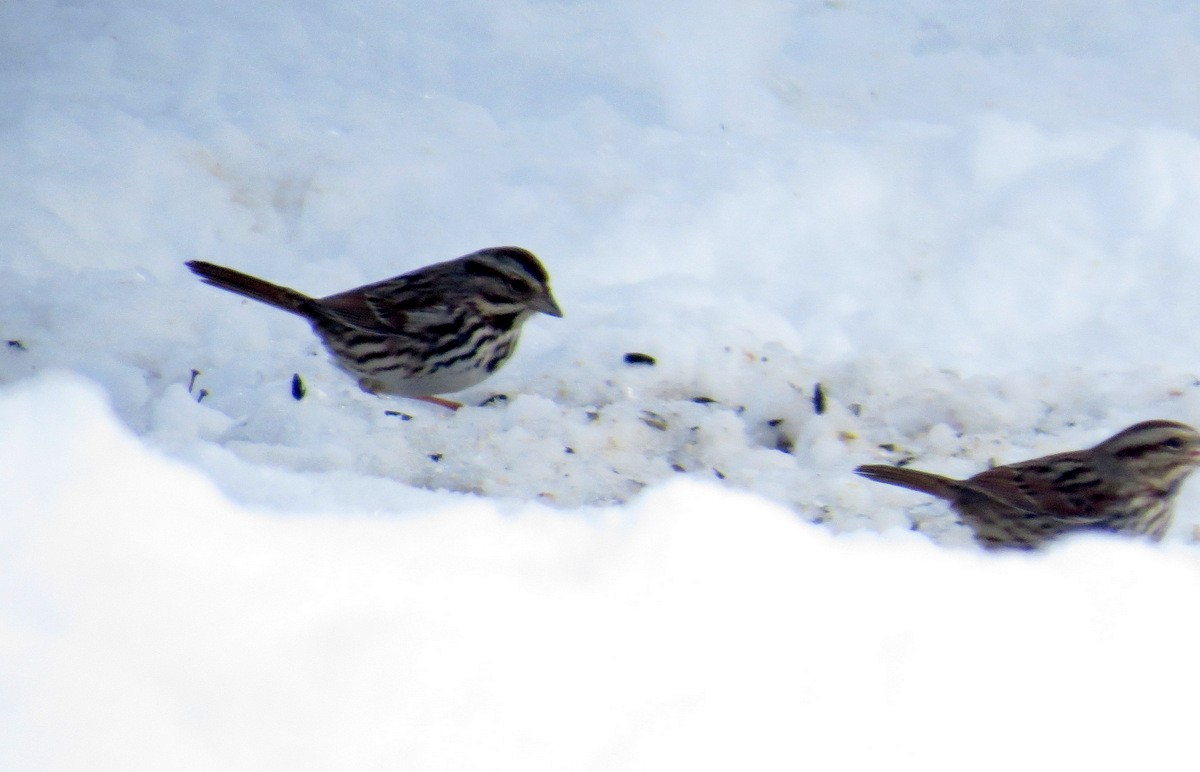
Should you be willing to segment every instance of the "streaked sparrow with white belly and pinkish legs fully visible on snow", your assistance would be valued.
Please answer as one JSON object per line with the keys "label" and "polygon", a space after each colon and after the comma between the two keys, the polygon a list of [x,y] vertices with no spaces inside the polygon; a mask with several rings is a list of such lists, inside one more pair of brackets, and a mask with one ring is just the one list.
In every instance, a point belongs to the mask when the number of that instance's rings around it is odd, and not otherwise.
{"label": "streaked sparrow with white belly and pinkish legs fully visible on snow", "polygon": [[230,268],[192,261],[205,283],[302,316],[334,361],[372,394],[450,408],[434,394],[487,378],[516,349],[535,312],[563,316],[532,252],[498,246],[394,279],[310,298]]}

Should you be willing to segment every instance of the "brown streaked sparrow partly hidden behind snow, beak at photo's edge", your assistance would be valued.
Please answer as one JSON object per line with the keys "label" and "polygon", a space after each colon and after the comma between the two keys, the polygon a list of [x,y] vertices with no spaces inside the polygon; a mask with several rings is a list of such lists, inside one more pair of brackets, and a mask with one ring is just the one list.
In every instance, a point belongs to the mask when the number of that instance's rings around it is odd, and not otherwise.
{"label": "brown streaked sparrow partly hidden behind snow, beak at photo's edge", "polygon": [[1200,433],[1135,424],[1094,448],[998,466],[966,480],[868,465],[865,478],[944,498],[988,549],[1033,549],[1075,531],[1163,538],[1175,495],[1200,465]]}

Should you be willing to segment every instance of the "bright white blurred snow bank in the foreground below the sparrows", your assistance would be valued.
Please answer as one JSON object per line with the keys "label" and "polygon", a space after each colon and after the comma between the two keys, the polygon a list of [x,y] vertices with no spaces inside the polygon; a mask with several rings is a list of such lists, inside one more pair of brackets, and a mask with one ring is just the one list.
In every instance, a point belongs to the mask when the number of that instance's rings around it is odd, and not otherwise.
{"label": "bright white blurred snow bank in the foreground below the sparrows", "polygon": [[250,510],[64,375],[0,393],[0,456],[7,768],[1190,764],[1189,551],[835,538],[695,483]]}

